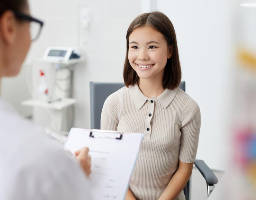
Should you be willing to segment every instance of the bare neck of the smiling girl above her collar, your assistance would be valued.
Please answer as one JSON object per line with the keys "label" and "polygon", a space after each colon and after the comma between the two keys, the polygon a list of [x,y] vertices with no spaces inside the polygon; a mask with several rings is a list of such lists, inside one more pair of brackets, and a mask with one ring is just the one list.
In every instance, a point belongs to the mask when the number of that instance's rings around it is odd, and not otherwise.
{"label": "bare neck of the smiling girl above her collar", "polygon": [[139,79],[138,86],[140,91],[149,98],[158,97],[164,91],[162,79]]}

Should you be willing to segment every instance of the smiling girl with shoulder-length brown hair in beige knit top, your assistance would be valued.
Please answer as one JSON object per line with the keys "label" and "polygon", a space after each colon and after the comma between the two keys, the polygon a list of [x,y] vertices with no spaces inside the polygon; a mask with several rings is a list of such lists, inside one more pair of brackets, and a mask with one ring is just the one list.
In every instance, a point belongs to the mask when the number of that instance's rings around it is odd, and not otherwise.
{"label": "smiling girl with shoulder-length brown hair in beige knit top", "polygon": [[144,13],[126,35],[126,87],[111,94],[101,129],[144,133],[126,199],[184,200],[200,131],[198,104],[179,89],[181,67],[171,21]]}

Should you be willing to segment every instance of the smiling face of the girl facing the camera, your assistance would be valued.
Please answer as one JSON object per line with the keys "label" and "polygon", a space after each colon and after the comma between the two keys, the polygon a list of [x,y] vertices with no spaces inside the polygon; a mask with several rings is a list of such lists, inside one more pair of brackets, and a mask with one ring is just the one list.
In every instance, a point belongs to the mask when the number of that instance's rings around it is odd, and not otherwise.
{"label": "smiling face of the girl facing the camera", "polygon": [[150,26],[134,29],[129,36],[128,59],[140,79],[163,79],[172,46],[168,46],[162,33]]}

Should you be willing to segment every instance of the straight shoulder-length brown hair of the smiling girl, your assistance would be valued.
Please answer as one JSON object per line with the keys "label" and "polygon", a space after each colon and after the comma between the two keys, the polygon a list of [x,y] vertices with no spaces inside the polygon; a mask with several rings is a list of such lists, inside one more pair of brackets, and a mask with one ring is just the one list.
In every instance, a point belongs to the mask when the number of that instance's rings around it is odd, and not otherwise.
{"label": "straight shoulder-length brown hair of the smiling girl", "polygon": [[128,60],[129,36],[134,29],[143,26],[150,26],[163,34],[168,46],[173,46],[172,57],[167,59],[163,76],[163,88],[175,89],[181,82],[181,66],[177,47],[176,34],[170,19],[162,12],[154,11],[143,13],[135,18],[126,34],[126,58],[124,64],[124,82],[126,87],[138,83],[139,77],[136,71],[131,67]]}

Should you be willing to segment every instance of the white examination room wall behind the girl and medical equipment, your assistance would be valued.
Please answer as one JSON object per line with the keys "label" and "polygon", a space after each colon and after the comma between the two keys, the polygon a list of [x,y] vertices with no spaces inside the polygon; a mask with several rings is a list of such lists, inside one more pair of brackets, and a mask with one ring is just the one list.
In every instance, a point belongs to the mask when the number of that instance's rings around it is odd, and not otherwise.
{"label": "white examination room wall behind the girl and medical equipment", "polygon": [[[232,7],[231,0],[30,0],[33,16],[45,26],[32,44],[18,77],[4,78],[1,95],[23,116],[31,108],[20,102],[31,98],[27,82],[31,62],[48,46],[80,46],[85,62],[75,66],[74,127],[90,128],[89,82],[122,82],[126,31],[136,16],[155,9],[173,22],[186,92],[201,109],[197,158],[215,170],[228,167],[228,132],[231,102]],[[88,18],[81,21],[81,14]],[[85,27],[84,27],[85,26]],[[16,83],[17,88],[12,86]]]}

